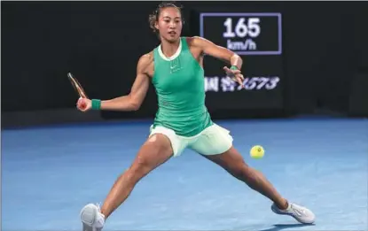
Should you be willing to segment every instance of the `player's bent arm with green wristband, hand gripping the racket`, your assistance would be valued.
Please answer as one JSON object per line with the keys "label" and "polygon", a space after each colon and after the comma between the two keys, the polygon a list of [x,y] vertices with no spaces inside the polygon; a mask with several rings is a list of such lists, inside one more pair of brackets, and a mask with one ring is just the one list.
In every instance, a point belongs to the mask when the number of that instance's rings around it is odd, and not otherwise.
{"label": "player's bent arm with green wristband, hand gripping the racket", "polygon": [[[152,58],[149,55],[144,55],[139,58],[137,64],[137,77],[133,83],[130,93],[127,96],[120,96],[109,100],[85,99],[81,98],[77,103],[77,108],[82,112],[95,110],[106,111],[137,111],[143,103],[150,79],[146,73],[147,66]],[[82,106],[84,104],[84,106]]]}

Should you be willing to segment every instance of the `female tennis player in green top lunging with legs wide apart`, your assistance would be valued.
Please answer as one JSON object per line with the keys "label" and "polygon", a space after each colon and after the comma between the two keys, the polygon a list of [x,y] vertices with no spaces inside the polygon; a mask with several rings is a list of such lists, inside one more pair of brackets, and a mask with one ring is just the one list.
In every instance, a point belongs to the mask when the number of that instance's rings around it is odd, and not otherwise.
{"label": "female tennis player in green top lunging with legs wide apart", "polygon": [[240,85],[243,82],[242,59],[204,38],[181,37],[183,19],[181,9],[175,4],[160,4],[149,21],[159,35],[161,45],[139,58],[137,77],[129,95],[104,101],[81,98],[77,102],[77,108],[82,112],[136,111],[152,81],[159,104],[148,139],[129,169],[114,182],[102,207],[87,204],[82,208],[83,231],[102,229],[106,219],[128,198],[139,180],[169,158],[179,156],[186,148],[222,166],[239,181],[270,198],[273,212],[292,216],[301,223],[313,223],[315,215],[309,209],[287,201],[262,173],[247,166],[232,146],[229,131],[216,125],[207,112],[204,54],[230,65],[223,70]]}

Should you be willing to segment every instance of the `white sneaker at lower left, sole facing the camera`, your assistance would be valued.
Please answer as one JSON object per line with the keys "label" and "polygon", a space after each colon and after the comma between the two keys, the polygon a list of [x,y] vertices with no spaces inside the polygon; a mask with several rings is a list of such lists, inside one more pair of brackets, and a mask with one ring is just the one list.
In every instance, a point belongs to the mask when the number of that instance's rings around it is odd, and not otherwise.
{"label": "white sneaker at lower left, sole facing the camera", "polygon": [[98,204],[87,204],[82,208],[82,231],[100,231],[105,225],[105,216],[101,213]]}

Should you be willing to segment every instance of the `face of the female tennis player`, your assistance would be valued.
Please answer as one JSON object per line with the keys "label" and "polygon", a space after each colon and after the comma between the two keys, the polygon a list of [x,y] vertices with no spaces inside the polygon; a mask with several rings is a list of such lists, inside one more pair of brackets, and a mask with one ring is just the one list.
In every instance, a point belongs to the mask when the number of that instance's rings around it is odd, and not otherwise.
{"label": "face of the female tennis player", "polygon": [[156,28],[162,38],[168,42],[175,42],[182,32],[182,15],[175,7],[167,7],[161,10]]}

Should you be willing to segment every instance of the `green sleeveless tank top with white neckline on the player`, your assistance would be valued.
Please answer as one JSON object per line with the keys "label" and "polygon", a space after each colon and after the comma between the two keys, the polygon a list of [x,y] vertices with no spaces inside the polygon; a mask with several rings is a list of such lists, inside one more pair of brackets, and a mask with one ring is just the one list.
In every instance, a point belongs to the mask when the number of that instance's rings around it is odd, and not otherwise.
{"label": "green sleeveless tank top with white neckline on the player", "polygon": [[153,53],[153,86],[159,103],[153,127],[168,127],[187,137],[198,135],[212,125],[205,105],[203,68],[193,58],[185,38],[172,58],[163,55],[161,46]]}

